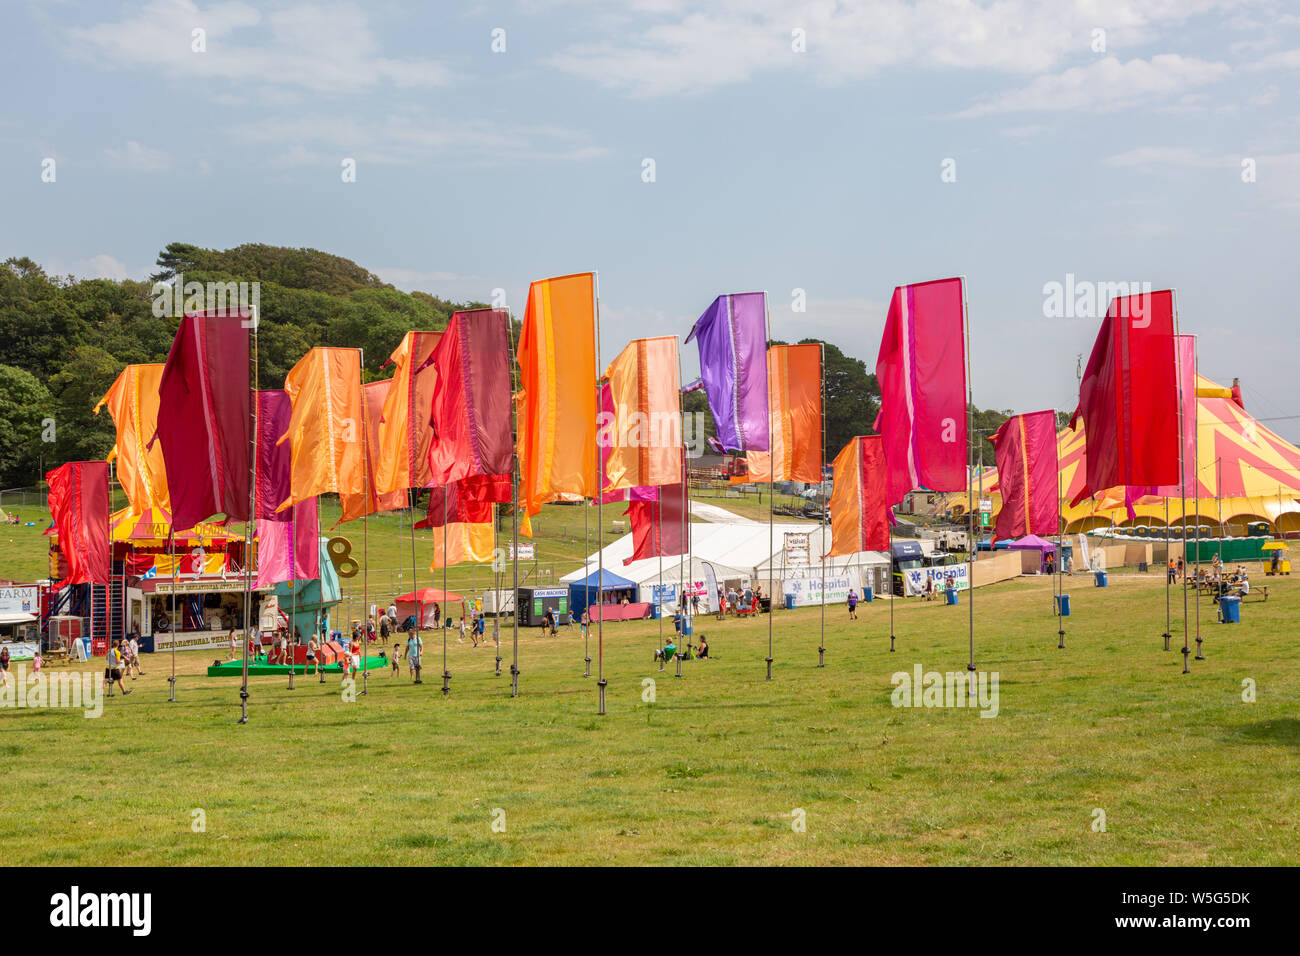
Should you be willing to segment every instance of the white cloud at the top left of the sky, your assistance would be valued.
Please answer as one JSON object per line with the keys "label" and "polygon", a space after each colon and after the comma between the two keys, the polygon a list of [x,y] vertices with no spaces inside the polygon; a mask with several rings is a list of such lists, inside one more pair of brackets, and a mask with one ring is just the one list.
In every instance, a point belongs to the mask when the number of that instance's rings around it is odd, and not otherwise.
{"label": "white cloud at the top left of the sky", "polygon": [[[192,49],[205,31],[204,52]],[[303,3],[263,14],[239,0],[199,8],[151,0],[134,16],[70,31],[73,51],[172,75],[358,92],[387,82],[442,86],[451,72],[434,60],[382,56],[367,13],[352,3]]]}

